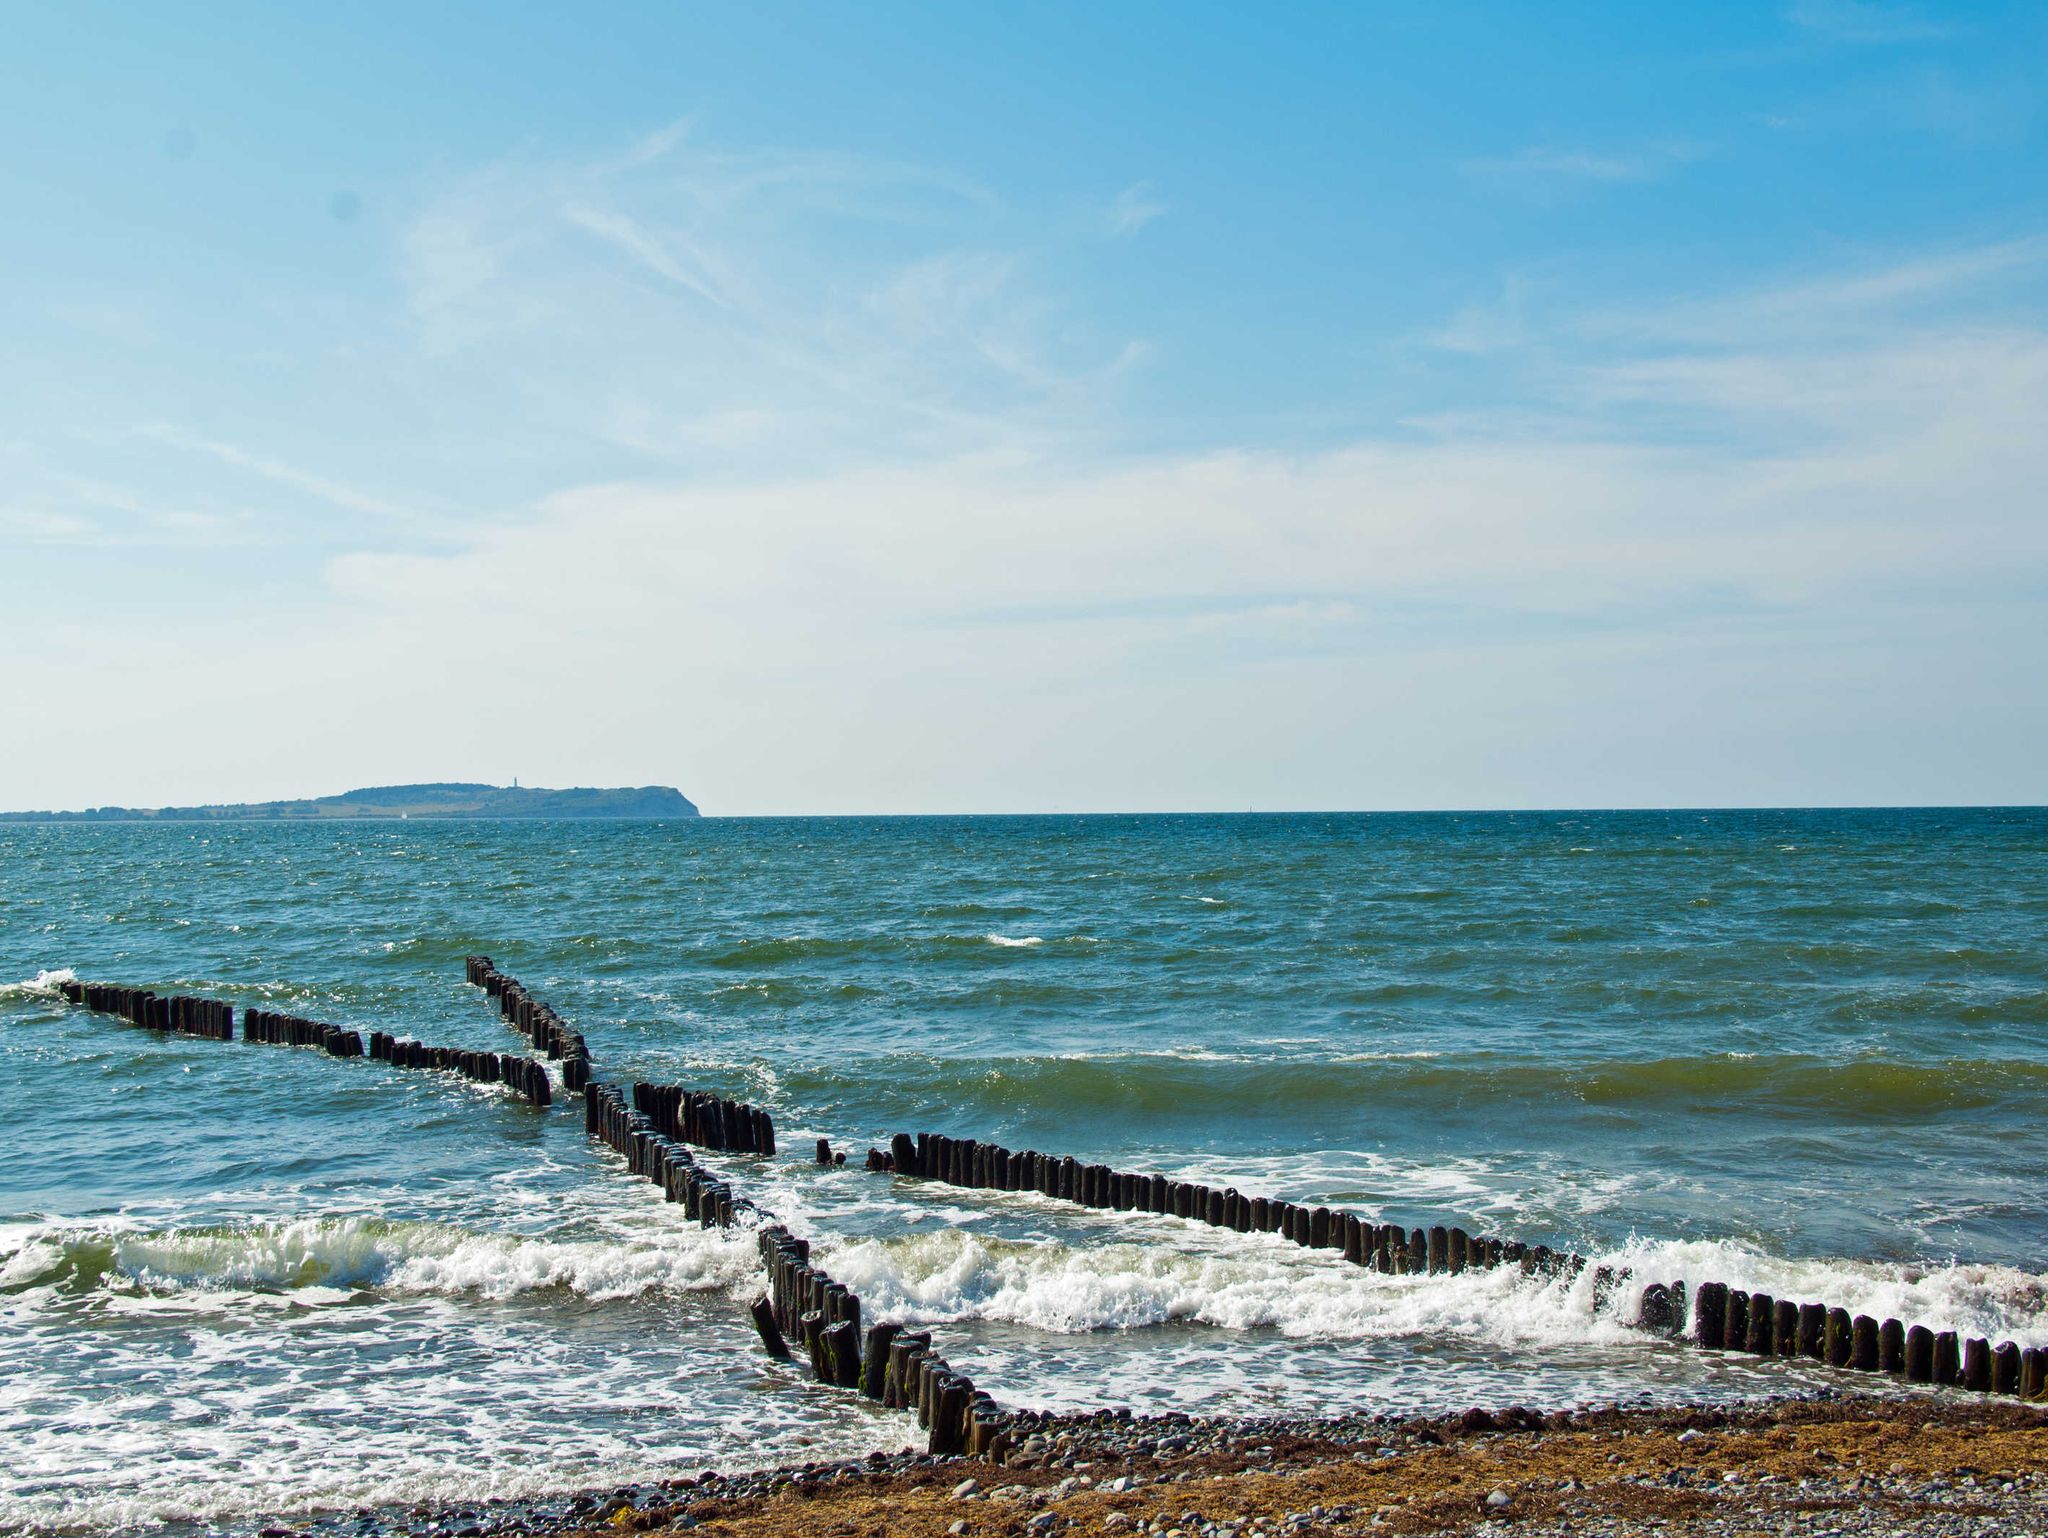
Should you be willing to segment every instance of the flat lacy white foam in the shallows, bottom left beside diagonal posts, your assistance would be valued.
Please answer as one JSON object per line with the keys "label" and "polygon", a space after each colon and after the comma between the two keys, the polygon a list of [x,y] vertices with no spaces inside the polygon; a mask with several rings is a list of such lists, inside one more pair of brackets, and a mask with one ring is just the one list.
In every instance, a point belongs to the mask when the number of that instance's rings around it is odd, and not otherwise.
{"label": "flat lacy white foam in the shallows, bottom left beside diagonal posts", "polygon": [[176,1335],[72,1331],[41,1352],[0,1329],[0,1530],[258,1526],[909,1438],[903,1417],[848,1395],[762,1393],[788,1374],[750,1350],[723,1298],[682,1315],[627,1307],[602,1333],[467,1298],[256,1313]]}

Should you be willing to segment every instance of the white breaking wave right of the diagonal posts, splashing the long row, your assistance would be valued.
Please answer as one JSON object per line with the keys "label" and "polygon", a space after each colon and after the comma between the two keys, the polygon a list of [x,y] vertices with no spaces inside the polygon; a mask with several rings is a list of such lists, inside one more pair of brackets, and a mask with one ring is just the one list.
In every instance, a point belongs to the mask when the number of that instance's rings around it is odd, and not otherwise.
{"label": "white breaking wave right of the diagonal posts, splashing the long row", "polygon": [[1204,1323],[1290,1337],[1460,1337],[1501,1348],[1630,1343],[1640,1284],[1706,1280],[1845,1307],[2021,1345],[2048,1343],[2048,1278],[2005,1266],[1925,1272],[1833,1259],[1780,1259],[1731,1241],[1630,1241],[1593,1257],[1636,1286],[1595,1307],[1593,1270],[1378,1276],[1335,1255],[1300,1255],[1264,1237],[1067,1245],[946,1229],[827,1245],[836,1278],[877,1317],[989,1319],[1057,1333]]}

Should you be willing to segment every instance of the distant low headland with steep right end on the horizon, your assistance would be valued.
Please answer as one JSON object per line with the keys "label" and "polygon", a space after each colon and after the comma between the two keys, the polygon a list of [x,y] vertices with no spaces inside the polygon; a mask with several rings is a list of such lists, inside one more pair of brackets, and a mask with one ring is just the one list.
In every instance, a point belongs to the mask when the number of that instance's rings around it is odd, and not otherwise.
{"label": "distant low headland with steep right end on the horizon", "polygon": [[90,811],[0,811],[10,823],[317,823],[340,817],[696,817],[670,784],[623,791],[539,791],[520,784],[381,784],[307,801],[236,801],[219,807],[94,807]]}

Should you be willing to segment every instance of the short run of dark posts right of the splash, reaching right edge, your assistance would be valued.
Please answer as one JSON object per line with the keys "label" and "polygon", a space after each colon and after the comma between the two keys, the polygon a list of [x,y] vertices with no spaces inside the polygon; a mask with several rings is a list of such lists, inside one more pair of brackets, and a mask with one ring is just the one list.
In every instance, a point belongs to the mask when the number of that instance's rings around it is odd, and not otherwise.
{"label": "short run of dark posts right of the splash, reaching right edge", "polygon": [[2048,1399],[2048,1350],[2040,1345],[1993,1345],[1982,1335],[1964,1339],[1954,1329],[1851,1317],[1847,1309],[1790,1302],[1724,1282],[1700,1282],[1694,1292],[1692,1337],[1708,1350],[1802,1356],[1907,1382]]}

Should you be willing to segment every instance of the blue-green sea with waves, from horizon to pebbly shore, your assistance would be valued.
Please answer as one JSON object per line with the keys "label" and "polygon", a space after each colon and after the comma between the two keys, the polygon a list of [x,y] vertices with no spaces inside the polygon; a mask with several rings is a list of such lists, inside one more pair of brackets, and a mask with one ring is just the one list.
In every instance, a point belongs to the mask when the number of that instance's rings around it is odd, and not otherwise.
{"label": "blue-green sea with waves, from horizon to pebbly shore", "polygon": [[[2048,811],[0,825],[0,1530],[246,1532],[901,1448],[750,1233],[455,1075],[66,979],[766,1106],[700,1155],[1010,1405],[1442,1413],[1868,1376],[1591,1272],[1376,1276],[868,1173],[948,1133],[2048,1345]],[[848,1151],[819,1167],[815,1139]]]}

